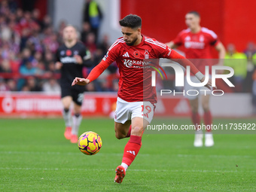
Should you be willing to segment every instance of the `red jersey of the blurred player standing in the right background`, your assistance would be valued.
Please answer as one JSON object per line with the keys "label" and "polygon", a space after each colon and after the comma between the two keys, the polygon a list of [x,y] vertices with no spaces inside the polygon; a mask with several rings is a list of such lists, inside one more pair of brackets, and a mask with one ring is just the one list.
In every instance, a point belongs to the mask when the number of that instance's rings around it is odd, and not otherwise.
{"label": "red jersey of the blurred player standing in the right background", "polygon": [[216,46],[219,40],[215,32],[202,27],[198,33],[192,33],[190,29],[182,30],[173,42],[184,46],[186,58],[193,59],[194,65],[204,74],[205,66],[211,66],[212,63],[209,62],[209,59],[212,59],[212,46]]}

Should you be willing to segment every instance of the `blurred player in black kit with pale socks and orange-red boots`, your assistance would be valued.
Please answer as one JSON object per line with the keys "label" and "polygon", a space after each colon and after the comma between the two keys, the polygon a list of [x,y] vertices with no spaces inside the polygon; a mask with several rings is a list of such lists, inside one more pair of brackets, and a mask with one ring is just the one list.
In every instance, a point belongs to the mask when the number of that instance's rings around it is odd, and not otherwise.
{"label": "blurred player in black kit with pale socks and orange-red boots", "polygon": [[[70,139],[70,142],[78,142],[78,130],[81,124],[81,105],[84,99],[85,87],[71,87],[73,79],[82,76],[84,66],[90,66],[90,51],[78,42],[77,31],[74,26],[66,26],[63,29],[63,41],[56,52],[56,69],[61,72],[60,87],[62,105],[64,107],[62,114],[66,123],[64,136]],[[70,105],[74,102],[74,116],[71,118]],[[73,119],[73,120],[72,120]]]}

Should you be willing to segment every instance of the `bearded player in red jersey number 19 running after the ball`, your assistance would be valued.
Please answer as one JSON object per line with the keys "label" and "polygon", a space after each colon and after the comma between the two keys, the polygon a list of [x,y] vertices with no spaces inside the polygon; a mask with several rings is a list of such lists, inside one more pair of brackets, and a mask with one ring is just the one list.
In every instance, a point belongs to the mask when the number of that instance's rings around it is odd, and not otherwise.
{"label": "bearded player in red jersey number 19 running after the ball", "polygon": [[[114,182],[121,183],[126,175],[126,169],[139,153],[142,145],[142,134],[151,123],[154,115],[154,96],[145,98],[143,94],[145,87],[151,87],[151,81],[145,85],[143,80],[143,60],[145,54],[148,59],[168,58],[179,59],[182,66],[190,66],[191,72],[200,81],[204,81],[204,75],[194,66],[192,62],[185,59],[175,50],[171,50],[166,44],[161,44],[152,38],[142,35],[142,20],[137,15],[127,15],[119,21],[123,38],[118,38],[108,49],[99,65],[96,66],[85,78],[75,78],[72,85],[86,85],[99,77],[102,72],[116,61],[119,68],[120,80],[117,93],[117,108],[114,117],[114,130],[117,139],[130,137],[123,151],[123,160],[117,166]],[[135,67],[136,66],[136,67]],[[208,81],[206,87],[211,88],[212,81]],[[152,99],[153,98],[153,99]],[[143,106],[151,108],[148,115],[143,115]]]}

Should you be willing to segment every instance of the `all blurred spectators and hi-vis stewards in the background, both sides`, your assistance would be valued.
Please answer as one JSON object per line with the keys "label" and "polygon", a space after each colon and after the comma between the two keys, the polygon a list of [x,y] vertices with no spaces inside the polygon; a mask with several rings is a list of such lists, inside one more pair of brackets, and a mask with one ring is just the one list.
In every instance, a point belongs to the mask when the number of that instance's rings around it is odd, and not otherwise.
{"label": "all blurred spectators and hi-vis stewards in the background, both sides", "polygon": [[[93,18],[90,17],[93,14]],[[84,5],[84,23],[80,40],[92,54],[96,66],[109,47],[108,35],[99,37],[102,11],[94,1]],[[0,91],[45,91],[59,93],[59,72],[55,70],[55,53],[62,44],[62,29],[68,24],[62,20],[57,29],[52,18],[43,19],[38,9],[23,11],[15,0],[0,2]],[[249,42],[244,52],[227,45],[225,66],[235,74],[231,78],[233,92],[253,93],[256,105],[256,46]],[[93,67],[94,67],[93,66]],[[84,69],[87,77],[91,69]],[[100,78],[87,85],[87,91],[117,91],[118,72],[113,63]]]}

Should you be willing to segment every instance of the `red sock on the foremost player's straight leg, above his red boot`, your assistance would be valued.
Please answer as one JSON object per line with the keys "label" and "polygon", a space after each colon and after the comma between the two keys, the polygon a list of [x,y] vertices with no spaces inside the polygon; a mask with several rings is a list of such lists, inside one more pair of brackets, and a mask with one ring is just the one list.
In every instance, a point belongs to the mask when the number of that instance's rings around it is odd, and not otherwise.
{"label": "red sock on the foremost player's straight leg, above his red boot", "polygon": [[133,163],[136,155],[139,153],[139,149],[141,148],[142,137],[141,136],[130,136],[129,141],[125,145],[123,151],[123,160],[122,163],[126,163],[126,165],[130,166]]}

